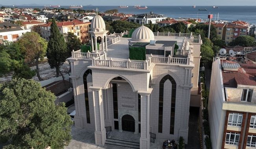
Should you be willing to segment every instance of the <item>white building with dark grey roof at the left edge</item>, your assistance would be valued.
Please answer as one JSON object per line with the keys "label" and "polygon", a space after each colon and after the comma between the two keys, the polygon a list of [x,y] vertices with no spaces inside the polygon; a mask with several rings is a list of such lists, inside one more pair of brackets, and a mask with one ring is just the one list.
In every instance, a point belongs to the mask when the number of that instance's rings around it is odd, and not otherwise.
{"label": "white building with dark grey roof at the left edge", "polygon": [[22,29],[20,26],[9,22],[0,23],[0,43],[3,43],[4,40],[17,41],[26,32],[30,32],[30,29]]}

